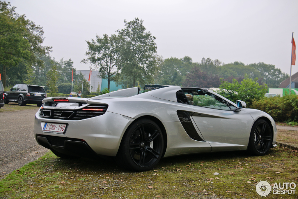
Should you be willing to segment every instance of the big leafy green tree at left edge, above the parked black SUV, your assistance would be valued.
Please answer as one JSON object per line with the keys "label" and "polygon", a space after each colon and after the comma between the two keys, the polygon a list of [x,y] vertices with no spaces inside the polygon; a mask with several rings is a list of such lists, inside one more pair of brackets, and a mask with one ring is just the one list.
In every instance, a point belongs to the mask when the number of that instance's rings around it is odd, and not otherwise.
{"label": "big leafy green tree at left edge, above the parked black SUV", "polygon": [[[6,86],[6,70],[9,67],[42,65],[37,54],[44,55],[51,47],[43,47],[42,27],[18,15],[10,3],[0,1],[0,64],[2,65],[3,83]],[[19,65],[20,62],[23,64]]]}

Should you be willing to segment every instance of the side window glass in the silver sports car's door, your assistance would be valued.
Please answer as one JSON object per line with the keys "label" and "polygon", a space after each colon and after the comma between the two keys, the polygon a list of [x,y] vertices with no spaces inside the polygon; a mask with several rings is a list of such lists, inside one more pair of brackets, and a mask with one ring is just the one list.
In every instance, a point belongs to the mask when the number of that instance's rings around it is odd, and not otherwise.
{"label": "side window glass in the silver sports car's door", "polygon": [[206,108],[231,110],[226,101],[215,94],[209,93],[206,89],[184,89],[189,104]]}

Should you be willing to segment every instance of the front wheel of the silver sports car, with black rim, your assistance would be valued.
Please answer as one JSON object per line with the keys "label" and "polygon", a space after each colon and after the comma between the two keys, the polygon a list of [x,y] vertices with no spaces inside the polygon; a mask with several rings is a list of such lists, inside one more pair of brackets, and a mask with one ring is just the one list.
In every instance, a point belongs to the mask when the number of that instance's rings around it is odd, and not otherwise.
{"label": "front wheel of the silver sports car, with black rim", "polygon": [[252,126],[249,137],[249,152],[253,155],[265,155],[272,144],[272,132],[265,120],[257,120]]}

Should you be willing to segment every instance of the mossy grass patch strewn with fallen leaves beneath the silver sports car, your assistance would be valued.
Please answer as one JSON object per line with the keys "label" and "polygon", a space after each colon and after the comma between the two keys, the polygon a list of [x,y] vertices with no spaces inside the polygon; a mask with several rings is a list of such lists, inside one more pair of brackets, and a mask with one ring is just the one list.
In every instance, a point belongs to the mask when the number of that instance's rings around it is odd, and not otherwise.
{"label": "mossy grass patch strewn with fallen leaves beneath the silver sports car", "polygon": [[297,157],[297,150],[277,146],[262,157],[242,151],[194,154],[130,172],[111,159],[65,160],[49,152],[2,179],[0,198],[260,198],[254,191],[259,180],[298,185]]}

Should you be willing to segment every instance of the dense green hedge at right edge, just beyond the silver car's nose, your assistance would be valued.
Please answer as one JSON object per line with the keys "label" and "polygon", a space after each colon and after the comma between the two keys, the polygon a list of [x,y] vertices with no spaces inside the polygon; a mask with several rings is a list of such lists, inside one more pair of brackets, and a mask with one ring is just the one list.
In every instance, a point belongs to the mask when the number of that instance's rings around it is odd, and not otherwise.
{"label": "dense green hedge at right edge, just beyond the silver car's nose", "polygon": [[278,122],[298,122],[298,96],[284,95],[283,97],[264,97],[253,100],[249,108],[255,108],[268,113]]}

